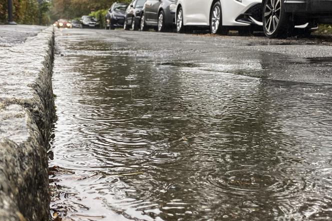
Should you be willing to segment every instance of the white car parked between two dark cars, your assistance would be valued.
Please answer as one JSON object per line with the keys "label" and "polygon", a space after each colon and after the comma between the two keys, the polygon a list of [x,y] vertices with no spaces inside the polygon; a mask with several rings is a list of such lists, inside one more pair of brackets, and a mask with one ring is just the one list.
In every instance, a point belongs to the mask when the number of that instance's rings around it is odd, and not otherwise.
{"label": "white car parked between two dark cars", "polygon": [[241,31],[252,24],[261,26],[261,8],[262,0],[178,0],[176,31],[209,26],[211,33],[226,33],[230,27]]}

